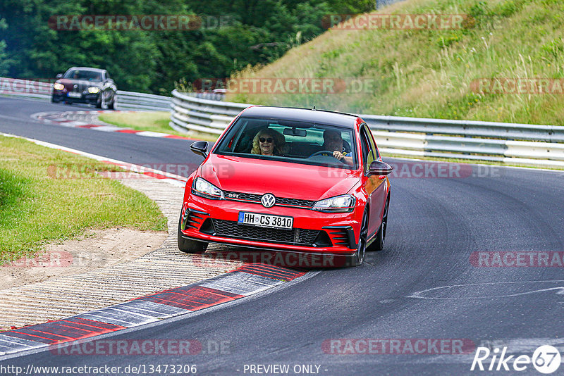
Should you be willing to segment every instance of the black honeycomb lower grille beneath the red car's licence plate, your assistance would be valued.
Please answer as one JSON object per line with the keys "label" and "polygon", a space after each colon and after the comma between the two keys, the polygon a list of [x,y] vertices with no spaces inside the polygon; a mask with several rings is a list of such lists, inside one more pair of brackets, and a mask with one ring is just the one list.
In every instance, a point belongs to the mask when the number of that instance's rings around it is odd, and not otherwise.
{"label": "black honeycomb lower grille beneath the red car's licence plate", "polygon": [[234,220],[214,219],[216,235],[235,239],[256,240],[259,242],[313,246],[319,230],[294,228],[279,230],[274,228],[239,225]]}

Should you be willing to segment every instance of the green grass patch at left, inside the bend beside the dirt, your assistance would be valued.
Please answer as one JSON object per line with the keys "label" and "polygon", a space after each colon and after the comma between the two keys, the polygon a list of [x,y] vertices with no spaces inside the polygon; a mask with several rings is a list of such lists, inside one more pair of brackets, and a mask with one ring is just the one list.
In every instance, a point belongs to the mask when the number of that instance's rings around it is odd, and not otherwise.
{"label": "green grass patch at left, inside the bend beside the dirt", "polygon": [[156,203],[96,170],[116,168],[0,137],[0,263],[33,257],[87,228],[166,230]]}

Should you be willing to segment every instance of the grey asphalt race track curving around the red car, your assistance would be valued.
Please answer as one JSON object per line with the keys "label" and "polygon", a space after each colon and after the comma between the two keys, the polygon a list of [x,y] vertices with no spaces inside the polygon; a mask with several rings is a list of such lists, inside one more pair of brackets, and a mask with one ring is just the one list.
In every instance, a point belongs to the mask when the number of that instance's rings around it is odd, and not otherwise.
{"label": "grey asphalt race track curving around the red car", "polygon": [[[183,141],[64,128],[29,118],[30,113],[60,108],[0,99],[0,132],[133,163],[198,158],[186,152]],[[195,339],[204,346],[197,355],[61,356],[39,351],[0,364],[195,364],[200,375],[264,375],[250,372],[250,365],[281,364],[290,366],[290,375],[295,365],[319,365],[319,375],[470,375],[477,372],[470,371],[474,350],[467,355],[438,354],[433,346],[421,354],[405,348],[391,354],[335,352],[362,344],[353,339],[465,339],[465,344],[507,346],[508,353],[529,356],[541,344],[562,349],[564,268],[484,267],[473,265],[471,255],[564,251],[564,173],[474,166],[474,175],[479,176],[392,177],[385,249],[369,253],[362,267],[321,270],[200,315],[104,337]],[[342,341],[342,347],[324,346],[331,339],[350,340]],[[223,351],[215,351],[219,343]],[[539,375],[530,364],[518,373]]]}

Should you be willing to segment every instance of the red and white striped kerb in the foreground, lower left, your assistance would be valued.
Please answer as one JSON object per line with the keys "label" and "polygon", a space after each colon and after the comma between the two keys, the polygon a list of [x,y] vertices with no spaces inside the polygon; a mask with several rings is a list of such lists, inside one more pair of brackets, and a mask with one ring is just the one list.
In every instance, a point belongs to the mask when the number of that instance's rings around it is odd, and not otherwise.
{"label": "red and white striped kerb in the foreground, lower left", "polygon": [[304,270],[247,264],[218,277],[62,320],[0,332],[0,355],[117,332],[257,294],[302,277]]}

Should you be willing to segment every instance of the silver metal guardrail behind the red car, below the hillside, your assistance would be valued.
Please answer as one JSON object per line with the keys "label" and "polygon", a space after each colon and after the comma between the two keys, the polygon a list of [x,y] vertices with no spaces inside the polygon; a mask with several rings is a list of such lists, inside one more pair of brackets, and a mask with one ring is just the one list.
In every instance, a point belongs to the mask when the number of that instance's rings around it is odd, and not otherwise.
{"label": "silver metal guardrail behind the red car, below the hillside", "polygon": [[[251,104],[209,101],[173,90],[171,127],[218,135]],[[564,167],[564,127],[360,115],[382,153]]]}

